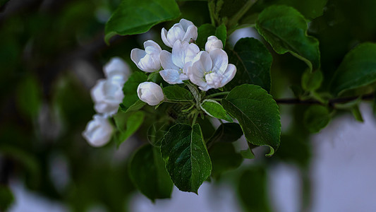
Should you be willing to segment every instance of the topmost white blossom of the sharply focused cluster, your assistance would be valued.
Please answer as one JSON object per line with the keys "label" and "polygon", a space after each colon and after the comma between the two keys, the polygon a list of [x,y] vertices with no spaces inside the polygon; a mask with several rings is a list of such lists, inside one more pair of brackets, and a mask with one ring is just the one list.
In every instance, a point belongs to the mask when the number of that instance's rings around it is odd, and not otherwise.
{"label": "topmost white blossom of the sharply focused cluster", "polygon": [[189,20],[181,18],[179,23],[174,24],[169,31],[162,28],[161,37],[164,44],[173,47],[176,40],[189,42],[197,39],[197,27]]}

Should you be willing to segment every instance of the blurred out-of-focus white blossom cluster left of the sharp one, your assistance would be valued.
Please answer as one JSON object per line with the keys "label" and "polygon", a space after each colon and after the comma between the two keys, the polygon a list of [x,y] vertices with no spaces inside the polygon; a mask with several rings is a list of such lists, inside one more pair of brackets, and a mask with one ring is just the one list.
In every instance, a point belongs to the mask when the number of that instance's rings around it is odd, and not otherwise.
{"label": "blurred out-of-focus white blossom cluster left of the sharp one", "polygon": [[92,88],[92,100],[98,114],[94,115],[83,131],[83,137],[90,145],[104,146],[111,139],[114,129],[108,118],[118,111],[119,104],[123,101],[123,85],[129,73],[128,64],[119,57],[114,57],[104,66],[106,78],[99,79]]}

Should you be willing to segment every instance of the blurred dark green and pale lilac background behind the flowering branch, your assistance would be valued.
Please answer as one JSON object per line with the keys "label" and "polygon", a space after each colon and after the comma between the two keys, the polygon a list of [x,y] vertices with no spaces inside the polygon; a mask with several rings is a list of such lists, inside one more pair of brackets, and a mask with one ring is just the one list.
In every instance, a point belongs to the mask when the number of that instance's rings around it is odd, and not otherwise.
{"label": "blurred dark green and pale lilac background behind the flowering branch", "polygon": [[[257,13],[277,1],[257,1]],[[199,196],[174,189],[155,204],[128,178],[131,153],[145,143],[136,134],[119,149],[93,148],[81,136],[92,115],[90,88],[102,66],[148,39],[162,44],[162,23],[142,35],[104,43],[104,25],[120,0],[0,0],[0,211],[372,211],[376,206],[376,124],[370,104],[364,123],[339,112],[320,134],[302,124],[307,106],[280,105],[281,146],[272,158],[257,148],[254,160],[205,182]],[[178,1],[182,18],[210,23],[205,1]],[[310,22],[320,40],[322,72],[330,79],[360,42],[376,42],[376,1],[329,0]],[[179,18],[180,19],[180,18]],[[240,37],[256,37],[253,28]],[[267,46],[269,48],[269,46]],[[272,95],[291,98],[306,66],[272,49]],[[328,82],[324,81],[324,85]],[[325,90],[322,88],[322,90]],[[213,123],[215,125],[215,123]],[[243,142],[236,149],[243,149]],[[257,182],[257,183],[255,183]],[[13,200],[13,201],[12,201]],[[360,207],[360,208],[359,208]]]}

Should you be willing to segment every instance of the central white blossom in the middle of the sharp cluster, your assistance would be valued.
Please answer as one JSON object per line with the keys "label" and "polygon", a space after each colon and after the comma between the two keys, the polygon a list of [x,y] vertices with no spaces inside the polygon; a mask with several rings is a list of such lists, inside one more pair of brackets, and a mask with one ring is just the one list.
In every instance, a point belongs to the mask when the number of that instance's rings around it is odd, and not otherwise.
{"label": "central white blossom in the middle of the sharp cluster", "polygon": [[186,73],[192,64],[193,58],[200,52],[200,48],[186,41],[176,41],[172,48],[172,54],[163,50],[159,59],[164,70],[159,71],[164,81],[170,84],[183,83],[188,80]]}

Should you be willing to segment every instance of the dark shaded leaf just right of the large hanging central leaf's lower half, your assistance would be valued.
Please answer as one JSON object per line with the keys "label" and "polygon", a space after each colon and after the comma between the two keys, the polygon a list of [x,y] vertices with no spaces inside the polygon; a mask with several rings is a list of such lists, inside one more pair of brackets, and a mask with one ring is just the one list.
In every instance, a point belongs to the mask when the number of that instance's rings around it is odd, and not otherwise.
{"label": "dark shaded leaf just right of the large hanging central leaf's lower half", "polygon": [[212,159],[212,177],[218,179],[223,172],[234,170],[243,162],[232,143],[215,143],[209,150]]}

